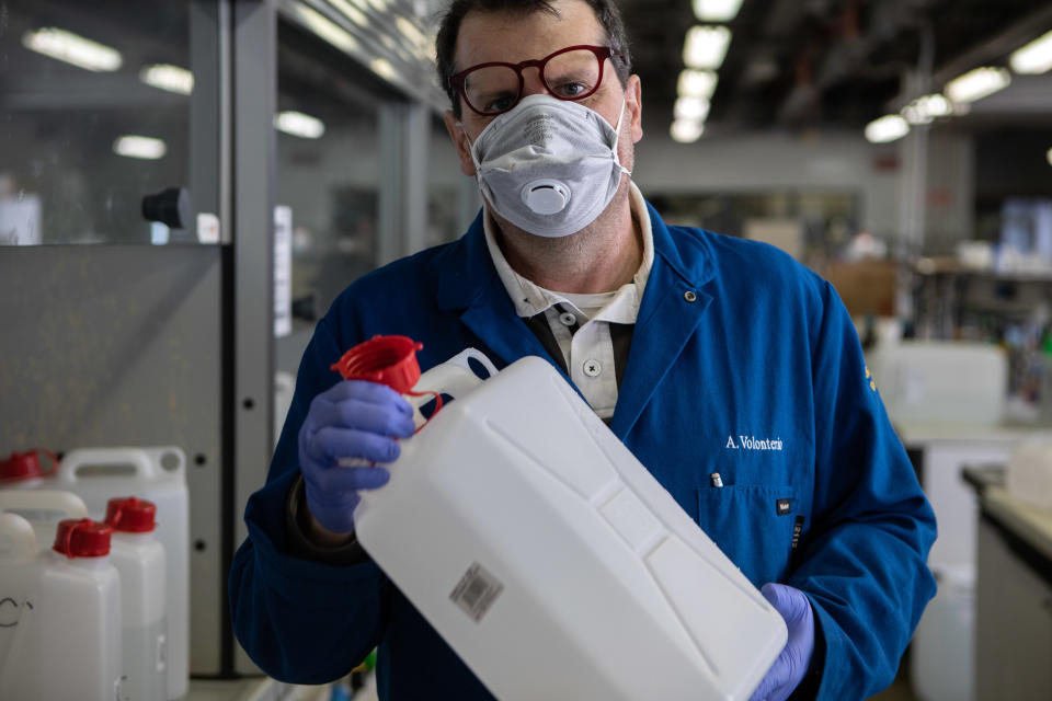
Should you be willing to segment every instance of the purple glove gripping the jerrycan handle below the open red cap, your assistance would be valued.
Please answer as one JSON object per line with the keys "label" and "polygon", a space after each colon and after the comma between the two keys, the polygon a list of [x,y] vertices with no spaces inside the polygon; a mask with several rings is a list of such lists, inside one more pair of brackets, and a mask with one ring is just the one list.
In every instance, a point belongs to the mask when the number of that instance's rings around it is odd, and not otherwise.
{"label": "purple glove gripping the jerrycan handle below the open red cap", "polygon": [[[392,462],[397,438],[413,435],[413,411],[398,392],[384,384],[344,380],[310,403],[299,429],[299,470],[307,508],[334,533],[354,530],[354,507],[361,490],[387,484],[390,473],[371,463]],[[344,467],[355,459],[357,467]]]}

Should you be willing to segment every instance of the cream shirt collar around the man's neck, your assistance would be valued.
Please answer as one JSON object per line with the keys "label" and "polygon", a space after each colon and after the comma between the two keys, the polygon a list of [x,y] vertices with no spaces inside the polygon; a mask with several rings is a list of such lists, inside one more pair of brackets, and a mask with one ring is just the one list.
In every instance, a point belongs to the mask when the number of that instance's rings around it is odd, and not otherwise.
{"label": "cream shirt collar around the man's neck", "polygon": [[[642,193],[631,181],[629,181],[629,205],[632,218],[639,222],[639,229],[643,237],[643,260],[639,269],[636,271],[636,275],[632,276],[632,281],[622,285],[617,290],[611,290],[616,292],[614,298],[596,317],[596,319],[616,323],[636,323],[639,306],[643,299],[643,290],[647,289],[647,279],[650,277],[650,269],[654,264],[654,235],[651,229],[650,212],[647,209]],[[485,245],[490,251],[490,257],[493,258],[496,274],[515,304],[515,313],[519,317],[535,317],[554,304],[569,303],[573,306],[563,295],[545,289],[512,269],[496,242],[496,235],[490,223],[489,205],[485,199],[482,200],[482,207]]]}

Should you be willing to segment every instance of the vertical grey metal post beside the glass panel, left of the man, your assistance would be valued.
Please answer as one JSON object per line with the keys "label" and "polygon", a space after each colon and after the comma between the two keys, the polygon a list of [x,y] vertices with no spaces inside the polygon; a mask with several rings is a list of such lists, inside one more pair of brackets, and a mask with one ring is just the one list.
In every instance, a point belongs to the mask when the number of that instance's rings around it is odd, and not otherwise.
{"label": "vertical grey metal post beside the glass panel, left of the man", "polygon": [[[277,14],[274,0],[232,1],[233,207],[230,462],[225,493],[232,520],[226,571],[248,536],[244,506],[266,480],[274,436],[274,205],[277,142]],[[226,589],[226,578],[224,578]],[[224,673],[255,666],[227,635]]]}

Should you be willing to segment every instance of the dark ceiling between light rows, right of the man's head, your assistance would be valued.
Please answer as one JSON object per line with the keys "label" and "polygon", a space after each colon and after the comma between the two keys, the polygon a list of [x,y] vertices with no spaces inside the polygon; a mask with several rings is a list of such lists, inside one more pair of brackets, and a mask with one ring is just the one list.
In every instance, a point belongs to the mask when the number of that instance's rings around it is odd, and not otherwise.
{"label": "dark ceiling between light rows, right of the man's head", "polygon": [[[698,23],[691,3],[619,0],[619,5],[647,119],[667,128],[684,37]],[[904,84],[907,73],[930,76],[933,90],[925,92],[931,92],[971,68],[1004,65],[1011,50],[1052,30],[1052,2],[744,0],[729,26],[733,38],[719,71],[710,127],[861,127],[903,106],[912,92]],[[987,99],[996,107],[974,110],[972,123],[1007,116],[1048,125],[1052,74],[1024,78]]]}

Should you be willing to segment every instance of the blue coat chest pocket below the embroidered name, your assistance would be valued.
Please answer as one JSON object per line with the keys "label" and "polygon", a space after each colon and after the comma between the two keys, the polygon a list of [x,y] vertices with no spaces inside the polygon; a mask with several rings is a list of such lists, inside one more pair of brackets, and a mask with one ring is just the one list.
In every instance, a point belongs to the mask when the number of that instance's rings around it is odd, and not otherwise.
{"label": "blue coat chest pocket below the embroidered name", "polygon": [[791,486],[707,486],[698,490],[698,525],[755,586],[786,573],[800,513]]}

